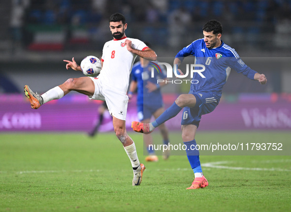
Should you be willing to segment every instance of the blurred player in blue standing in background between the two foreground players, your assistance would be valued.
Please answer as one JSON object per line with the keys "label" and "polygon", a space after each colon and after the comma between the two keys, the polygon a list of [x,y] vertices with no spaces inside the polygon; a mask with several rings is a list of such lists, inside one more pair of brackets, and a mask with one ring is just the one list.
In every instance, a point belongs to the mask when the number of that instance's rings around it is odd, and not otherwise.
{"label": "blurred player in blue standing in background between the two foreground players", "polygon": [[[150,43],[145,42],[145,44],[151,48]],[[154,66],[156,66],[156,63],[140,58],[132,67],[128,95],[130,99],[137,89],[137,118],[140,122],[148,123],[151,121],[152,116],[157,119],[164,112],[161,87],[165,85],[165,70],[161,67],[161,71],[158,72]],[[154,77],[151,77],[152,70],[155,71]],[[164,82],[157,84],[157,79],[163,79]],[[159,129],[161,130],[163,144],[167,145],[169,138],[165,124],[162,123]],[[152,136],[144,135],[144,143],[148,151],[148,156],[145,160],[157,162],[159,158],[155,154],[153,146],[149,146],[153,144]],[[163,159],[168,159],[169,154],[169,151],[163,152]]]}

